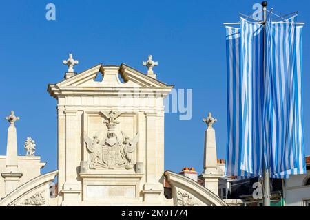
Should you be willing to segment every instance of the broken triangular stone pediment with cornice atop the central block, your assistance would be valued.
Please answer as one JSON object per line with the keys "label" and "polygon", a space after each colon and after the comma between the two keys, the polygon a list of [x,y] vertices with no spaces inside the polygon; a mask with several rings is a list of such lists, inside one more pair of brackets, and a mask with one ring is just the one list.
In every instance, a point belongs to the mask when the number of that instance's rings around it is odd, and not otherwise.
{"label": "broken triangular stone pediment with cornice atop the central block", "polygon": [[[102,75],[103,80],[96,80],[98,74]],[[60,83],[48,85],[48,91],[54,98],[63,94],[117,95],[122,91],[124,94],[128,94],[135,89],[143,90],[146,94],[158,91],[159,94],[166,96],[172,88],[173,86],[166,85],[125,64],[121,66],[99,64]]]}

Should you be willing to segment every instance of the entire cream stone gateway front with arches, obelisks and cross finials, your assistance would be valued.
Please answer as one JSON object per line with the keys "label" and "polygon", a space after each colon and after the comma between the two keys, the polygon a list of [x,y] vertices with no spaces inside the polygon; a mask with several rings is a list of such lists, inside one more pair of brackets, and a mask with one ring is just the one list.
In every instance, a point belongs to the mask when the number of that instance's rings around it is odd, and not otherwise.
{"label": "entire cream stone gateway front with arches, obelisks and cross finials", "polygon": [[[44,164],[34,156],[31,137],[25,141],[26,156],[17,157],[14,122],[19,118],[12,113],[10,157],[0,157],[0,206],[226,206],[196,181],[164,174],[163,100],[173,86],[156,79],[152,56],[143,63],[147,74],[125,64],[99,64],[76,74],[72,54],[63,63],[68,65],[64,80],[48,85],[57,100],[58,170],[40,175]],[[214,122],[207,118],[210,127]],[[215,133],[208,142],[215,144]],[[12,177],[6,176],[8,162]],[[169,198],[164,179],[172,185]],[[10,192],[3,190],[4,181],[14,181]]]}

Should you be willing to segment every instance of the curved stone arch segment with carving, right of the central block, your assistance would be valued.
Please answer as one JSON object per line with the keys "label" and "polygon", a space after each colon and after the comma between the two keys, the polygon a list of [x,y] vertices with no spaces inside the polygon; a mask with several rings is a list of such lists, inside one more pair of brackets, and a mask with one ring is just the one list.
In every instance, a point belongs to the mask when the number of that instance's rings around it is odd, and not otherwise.
{"label": "curved stone arch segment with carving, right of the central block", "polygon": [[172,186],[174,206],[228,206],[220,197],[188,177],[166,171],[165,178]]}

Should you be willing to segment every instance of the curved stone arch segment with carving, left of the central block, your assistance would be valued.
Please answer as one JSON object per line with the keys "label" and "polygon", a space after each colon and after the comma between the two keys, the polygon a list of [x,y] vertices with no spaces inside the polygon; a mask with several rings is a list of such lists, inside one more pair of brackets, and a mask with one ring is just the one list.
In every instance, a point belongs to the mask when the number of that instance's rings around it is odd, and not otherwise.
{"label": "curved stone arch segment with carving, left of the central block", "polygon": [[6,195],[0,206],[50,206],[50,183],[58,170],[40,175]]}

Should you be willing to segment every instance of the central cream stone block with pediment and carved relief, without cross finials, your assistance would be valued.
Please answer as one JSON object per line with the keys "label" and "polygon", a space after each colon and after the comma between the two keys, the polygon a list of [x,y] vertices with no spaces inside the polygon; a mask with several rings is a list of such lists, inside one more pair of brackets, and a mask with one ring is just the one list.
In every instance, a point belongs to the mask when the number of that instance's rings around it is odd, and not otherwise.
{"label": "central cream stone block with pediment and carved relief, without cross finials", "polygon": [[171,89],[124,64],[49,85],[58,100],[59,205],[163,204],[163,99]]}

